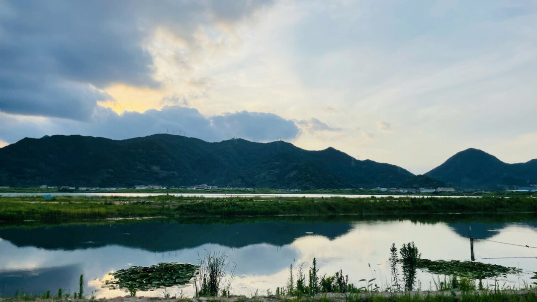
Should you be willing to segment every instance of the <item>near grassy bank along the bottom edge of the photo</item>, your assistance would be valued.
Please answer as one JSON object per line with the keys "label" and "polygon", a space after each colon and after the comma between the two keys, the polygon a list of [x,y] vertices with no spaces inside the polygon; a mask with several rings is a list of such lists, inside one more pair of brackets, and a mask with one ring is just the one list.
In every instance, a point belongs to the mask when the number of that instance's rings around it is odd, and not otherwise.
{"label": "near grassy bank along the bottom edge of the photo", "polygon": [[[66,302],[83,302],[86,299],[42,299],[42,298],[22,298],[10,297],[0,298],[5,302],[22,302],[22,301],[66,301]],[[231,297],[200,297],[200,298],[157,298],[157,297],[118,297],[110,299],[95,299],[102,302],[530,302],[537,301],[536,290],[500,290],[500,291],[412,291],[412,292],[368,292],[357,294],[342,293],[323,293],[315,296],[231,296]]]}

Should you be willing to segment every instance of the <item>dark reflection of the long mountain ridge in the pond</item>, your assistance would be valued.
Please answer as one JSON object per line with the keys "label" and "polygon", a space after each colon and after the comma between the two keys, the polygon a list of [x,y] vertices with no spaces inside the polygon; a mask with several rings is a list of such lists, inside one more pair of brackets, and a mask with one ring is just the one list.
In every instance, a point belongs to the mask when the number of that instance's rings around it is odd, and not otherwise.
{"label": "dark reflection of the long mountain ridge in the pond", "polygon": [[240,248],[252,244],[284,246],[307,233],[334,239],[351,230],[350,222],[255,222],[236,224],[183,224],[146,222],[110,225],[52,225],[6,227],[0,238],[16,246],[79,249],[120,245],[153,252],[177,251],[203,244]]}

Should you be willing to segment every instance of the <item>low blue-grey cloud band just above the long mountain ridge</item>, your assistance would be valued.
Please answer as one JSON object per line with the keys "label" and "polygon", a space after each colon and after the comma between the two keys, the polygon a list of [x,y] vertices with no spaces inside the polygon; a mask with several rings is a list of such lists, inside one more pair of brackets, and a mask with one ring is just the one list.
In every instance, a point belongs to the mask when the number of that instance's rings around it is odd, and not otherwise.
{"label": "low blue-grey cloud band just above the long mountain ridge", "polygon": [[121,114],[111,108],[97,106],[88,121],[0,113],[0,140],[7,143],[24,137],[54,134],[125,139],[155,133],[181,134],[213,142],[233,137],[266,142],[278,137],[293,139],[300,130],[293,121],[271,113],[242,111],[204,116],[197,109],[181,106]]}

